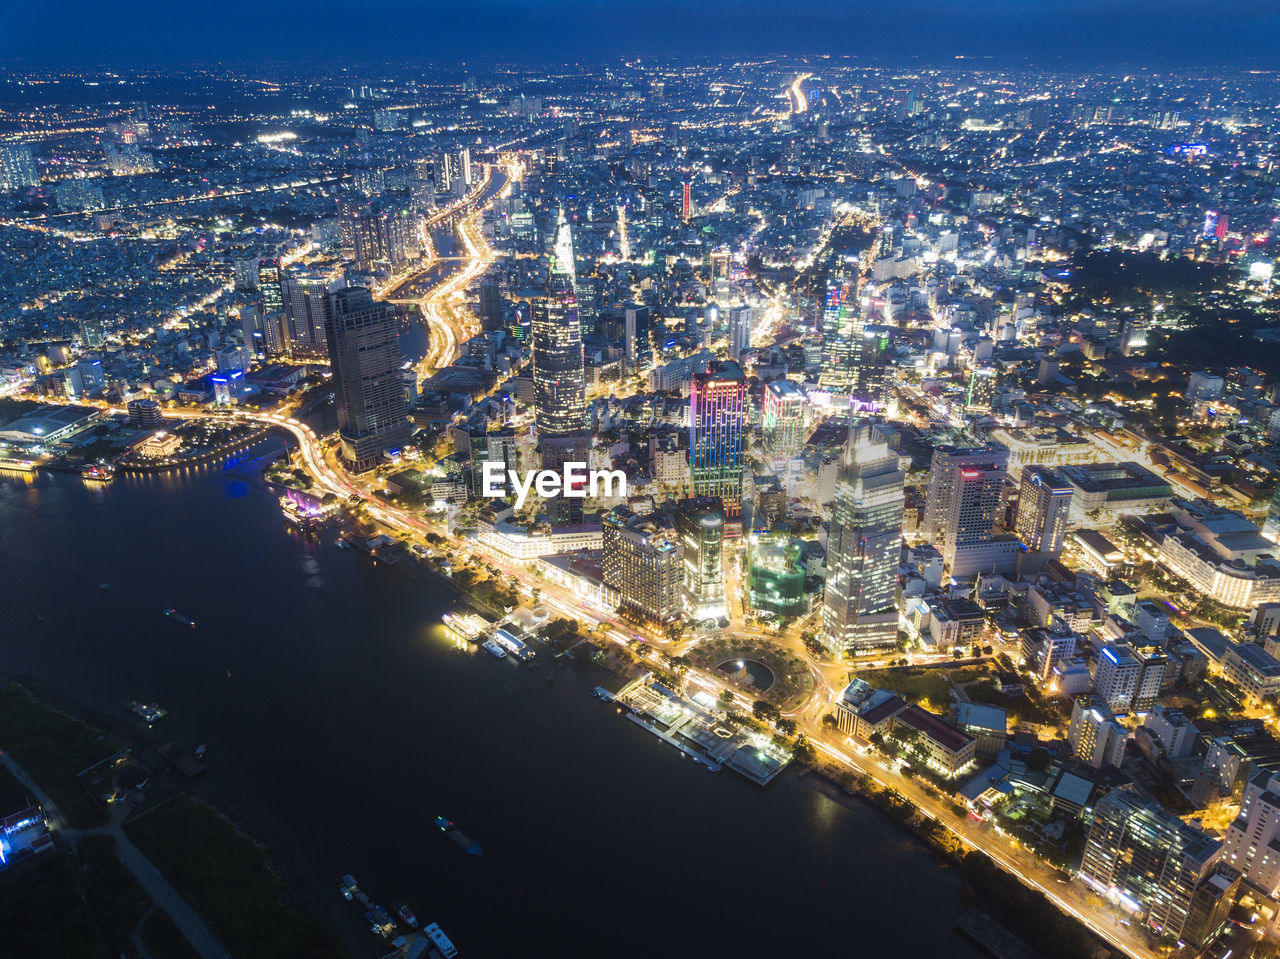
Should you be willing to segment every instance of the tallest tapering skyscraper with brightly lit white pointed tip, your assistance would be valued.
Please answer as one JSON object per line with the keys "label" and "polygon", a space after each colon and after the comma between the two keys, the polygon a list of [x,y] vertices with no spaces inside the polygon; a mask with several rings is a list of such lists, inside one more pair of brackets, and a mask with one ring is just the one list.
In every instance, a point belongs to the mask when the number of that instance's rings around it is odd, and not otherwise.
{"label": "tallest tapering skyscraper with brightly lit white pointed tip", "polygon": [[579,435],[586,429],[582,330],[573,279],[573,238],[562,210],[548,289],[532,302],[534,421],[539,439]]}

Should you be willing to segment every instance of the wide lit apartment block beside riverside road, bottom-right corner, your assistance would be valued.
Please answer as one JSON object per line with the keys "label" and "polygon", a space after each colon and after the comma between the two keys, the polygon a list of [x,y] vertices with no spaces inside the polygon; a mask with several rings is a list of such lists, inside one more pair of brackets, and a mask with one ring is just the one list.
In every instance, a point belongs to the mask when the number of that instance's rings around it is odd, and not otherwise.
{"label": "wide lit apartment block beside riverside road, bottom-right corner", "polygon": [[1080,877],[1152,932],[1179,939],[1221,851],[1219,840],[1121,786],[1093,809]]}

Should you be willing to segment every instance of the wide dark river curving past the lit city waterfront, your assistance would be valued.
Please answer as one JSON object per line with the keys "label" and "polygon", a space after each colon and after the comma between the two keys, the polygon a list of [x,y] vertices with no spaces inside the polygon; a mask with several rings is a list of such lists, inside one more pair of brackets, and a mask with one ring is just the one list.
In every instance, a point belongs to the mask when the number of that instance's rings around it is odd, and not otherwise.
{"label": "wide dark river curving past the lit city waterfront", "polygon": [[590,697],[599,676],[458,649],[430,580],[300,539],[234,467],[0,479],[0,670],[122,720],[168,707],[156,734],[209,744],[209,787],[356,956],[380,944],[344,872],[463,959],[977,955],[956,880],[874,810],[708,773]]}

